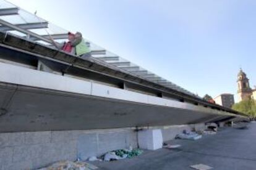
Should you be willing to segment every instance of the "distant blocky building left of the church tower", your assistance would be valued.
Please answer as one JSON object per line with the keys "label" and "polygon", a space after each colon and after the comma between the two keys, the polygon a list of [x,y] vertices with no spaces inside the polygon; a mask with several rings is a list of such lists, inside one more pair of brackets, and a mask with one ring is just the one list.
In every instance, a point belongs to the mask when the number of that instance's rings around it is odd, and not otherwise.
{"label": "distant blocky building left of the church tower", "polygon": [[234,95],[233,94],[221,94],[215,97],[215,103],[223,107],[231,108],[234,105]]}

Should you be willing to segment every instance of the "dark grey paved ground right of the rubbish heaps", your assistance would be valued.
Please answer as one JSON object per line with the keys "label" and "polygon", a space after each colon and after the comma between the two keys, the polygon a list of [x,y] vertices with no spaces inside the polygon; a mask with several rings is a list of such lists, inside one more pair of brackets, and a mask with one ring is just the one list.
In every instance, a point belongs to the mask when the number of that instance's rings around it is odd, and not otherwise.
{"label": "dark grey paved ground right of the rubbish heaps", "polygon": [[249,129],[226,127],[202,139],[172,140],[181,144],[176,150],[162,148],[136,158],[94,162],[101,169],[190,169],[192,164],[207,164],[214,169],[256,169],[256,123]]}

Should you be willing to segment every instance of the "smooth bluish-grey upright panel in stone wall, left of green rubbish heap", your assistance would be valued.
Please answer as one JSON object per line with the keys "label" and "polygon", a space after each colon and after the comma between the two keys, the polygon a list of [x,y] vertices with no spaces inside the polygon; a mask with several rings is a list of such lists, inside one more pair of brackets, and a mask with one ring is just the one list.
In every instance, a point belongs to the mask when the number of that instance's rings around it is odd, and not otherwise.
{"label": "smooth bluish-grey upright panel in stone wall, left of green rubbish heap", "polygon": [[98,136],[94,134],[83,134],[77,140],[77,156],[81,160],[87,160],[89,156],[98,155]]}

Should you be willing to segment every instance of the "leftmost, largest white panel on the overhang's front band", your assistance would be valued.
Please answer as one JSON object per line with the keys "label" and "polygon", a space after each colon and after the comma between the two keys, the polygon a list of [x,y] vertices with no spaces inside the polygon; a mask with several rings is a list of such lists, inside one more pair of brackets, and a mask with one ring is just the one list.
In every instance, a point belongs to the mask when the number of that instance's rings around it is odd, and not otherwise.
{"label": "leftmost, largest white panel on the overhang's front band", "polygon": [[92,83],[0,62],[0,81],[90,95]]}

